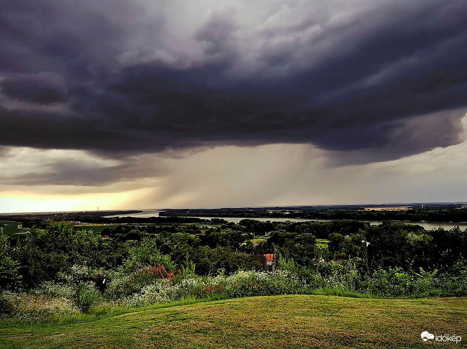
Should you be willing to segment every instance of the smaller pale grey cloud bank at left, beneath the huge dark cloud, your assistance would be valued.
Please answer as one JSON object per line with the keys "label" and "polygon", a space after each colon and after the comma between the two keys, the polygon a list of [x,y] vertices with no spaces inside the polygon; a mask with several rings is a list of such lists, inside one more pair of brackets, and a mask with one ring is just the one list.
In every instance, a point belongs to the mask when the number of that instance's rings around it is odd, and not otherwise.
{"label": "smaller pale grey cloud bank at left, beneath the huge dark cloud", "polygon": [[83,151],[0,148],[0,183],[15,186],[91,186],[163,177],[168,167],[153,155],[103,159]]}

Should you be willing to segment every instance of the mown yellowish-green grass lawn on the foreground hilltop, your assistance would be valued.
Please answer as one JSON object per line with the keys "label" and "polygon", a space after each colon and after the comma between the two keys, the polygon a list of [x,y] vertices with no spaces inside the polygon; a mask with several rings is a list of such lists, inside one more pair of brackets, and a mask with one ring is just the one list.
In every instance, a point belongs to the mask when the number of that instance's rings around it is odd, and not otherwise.
{"label": "mown yellowish-green grass lawn on the foreground hilltop", "polygon": [[[424,342],[423,331],[459,335]],[[142,311],[68,325],[0,327],[2,348],[467,347],[467,298],[270,296]]]}

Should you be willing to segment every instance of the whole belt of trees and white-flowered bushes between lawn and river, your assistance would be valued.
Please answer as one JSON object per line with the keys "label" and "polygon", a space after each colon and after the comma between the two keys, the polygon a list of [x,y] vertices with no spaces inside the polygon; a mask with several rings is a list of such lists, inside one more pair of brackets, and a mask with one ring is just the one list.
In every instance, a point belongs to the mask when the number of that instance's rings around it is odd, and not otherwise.
{"label": "whole belt of trees and white-flowered bushes between lawn and river", "polygon": [[[318,240],[319,239],[319,240]],[[271,295],[467,296],[459,228],[357,221],[107,227],[0,236],[0,319],[80,322],[141,307]]]}

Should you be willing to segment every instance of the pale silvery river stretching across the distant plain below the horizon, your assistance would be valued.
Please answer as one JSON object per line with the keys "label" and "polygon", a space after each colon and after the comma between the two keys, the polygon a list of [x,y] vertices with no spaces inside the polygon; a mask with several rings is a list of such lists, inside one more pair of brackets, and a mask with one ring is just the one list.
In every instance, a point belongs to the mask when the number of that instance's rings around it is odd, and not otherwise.
{"label": "pale silvery river stretching across the distant plain below the horizon", "polygon": [[[154,209],[149,209],[149,210],[142,210],[143,212],[140,213],[133,213],[133,214],[126,214],[126,215],[120,215],[122,217],[158,217],[159,212],[161,210],[154,210]],[[107,216],[109,218],[111,217],[118,217],[119,215],[116,216]],[[219,218],[219,219],[225,219],[228,222],[234,222],[238,223],[242,219],[245,219],[243,217],[197,217],[195,216],[194,218],[201,218],[201,219],[211,219],[211,218]],[[251,219],[256,219],[260,221],[276,221],[276,222],[285,222],[287,220],[290,220],[292,222],[305,222],[305,221],[317,221],[317,222],[329,222],[332,220],[336,219],[309,219],[309,218],[251,218]],[[360,220],[360,222],[369,222],[371,225],[379,225],[383,223],[382,220]],[[459,228],[462,230],[467,229],[467,222],[459,222],[459,223],[453,223],[453,222],[409,222],[409,221],[400,221],[401,223],[406,223],[406,224],[418,224],[423,226],[426,230],[431,230],[432,228],[437,228],[437,227],[442,227],[444,229],[451,229],[454,226],[458,225]]]}

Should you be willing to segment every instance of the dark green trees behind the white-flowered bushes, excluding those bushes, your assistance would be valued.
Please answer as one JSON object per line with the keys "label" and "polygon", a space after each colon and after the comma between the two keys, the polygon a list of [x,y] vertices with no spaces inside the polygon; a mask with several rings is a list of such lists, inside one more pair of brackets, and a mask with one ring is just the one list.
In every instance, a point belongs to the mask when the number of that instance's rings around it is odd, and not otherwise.
{"label": "dark green trees behind the white-flowered bushes, excluding those bushes", "polygon": [[[353,220],[216,223],[119,225],[96,232],[53,221],[29,234],[1,237],[2,287],[32,288],[83,263],[127,271],[141,265],[160,264],[168,272],[195,266],[199,275],[267,271],[266,254],[308,269],[352,260],[362,275],[390,268],[455,274],[467,254],[467,233],[458,227],[427,231],[414,224]],[[316,239],[329,243],[318,246]]]}

